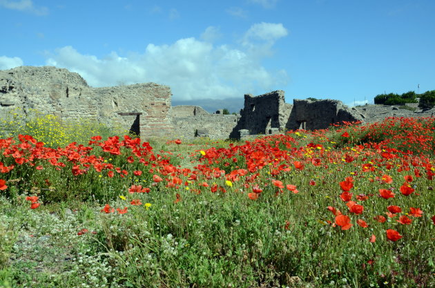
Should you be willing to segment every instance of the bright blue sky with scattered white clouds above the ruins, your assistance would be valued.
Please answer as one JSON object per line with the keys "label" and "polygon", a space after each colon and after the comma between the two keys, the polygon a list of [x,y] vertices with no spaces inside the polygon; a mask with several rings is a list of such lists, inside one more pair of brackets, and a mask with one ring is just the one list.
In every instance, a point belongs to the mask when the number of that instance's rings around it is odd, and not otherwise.
{"label": "bright blue sky with scattered white clouds above the ruins", "polygon": [[284,90],[363,104],[435,89],[434,15],[434,0],[0,0],[0,69],[154,81],[179,102]]}

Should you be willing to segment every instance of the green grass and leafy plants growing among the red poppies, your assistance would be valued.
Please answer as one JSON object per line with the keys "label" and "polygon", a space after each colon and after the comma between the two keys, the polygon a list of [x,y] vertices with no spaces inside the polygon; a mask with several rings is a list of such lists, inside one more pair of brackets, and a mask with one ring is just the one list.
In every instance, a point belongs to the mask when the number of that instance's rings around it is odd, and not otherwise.
{"label": "green grass and leafy plants growing among the red poppies", "polygon": [[[399,126],[388,127],[400,134]],[[381,128],[376,126],[376,135]],[[412,182],[416,192],[404,196],[398,189],[404,175],[414,175],[414,166],[409,164],[406,171],[404,162],[424,159],[434,166],[434,156],[382,160],[376,149],[369,150],[373,155],[363,155],[351,144],[362,143],[360,139],[374,131],[345,129],[301,131],[292,135],[294,140],[264,138],[264,151],[284,151],[282,157],[288,158],[287,162],[278,160],[277,154],[276,160],[272,158],[258,171],[255,183],[263,189],[258,200],[248,197],[252,190],[244,185],[248,183],[244,176],[231,186],[224,177],[188,180],[197,164],[227,174],[246,168],[242,155],[224,153],[222,161],[209,164],[199,152],[213,146],[231,150],[242,143],[183,140],[177,145],[154,140],[153,151],[162,157],[150,160],[155,166],[146,167],[126,161],[131,155],[127,148],[122,148],[121,155],[95,148],[97,157],[126,169],[126,177],[110,178],[92,169],[73,176],[72,163],[66,160],[62,171],[51,166],[42,171],[17,166],[0,177],[8,175],[8,188],[0,191],[0,287],[431,287],[435,283],[434,180],[416,166],[423,173]],[[345,131],[354,138],[343,139]],[[309,143],[321,143],[323,148],[307,148]],[[345,155],[354,161],[345,162]],[[311,164],[316,157],[322,166]],[[0,161],[10,165],[11,160],[3,155]],[[294,169],[293,160],[305,161],[305,169]],[[370,161],[378,167],[376,171],[362,172],[363,164]],[[388,169],[387,162],[394,169]],[[158,169],[171,163],[191,169],[177,174],[182,178],[180,187],[166,187],[166,181],[153,184]],[[273,176],[280,164],[292,169]],[[144,173],[134,177],[132,171],[138,169]],[[392,177],[392,184],[380,180],[385,174]],[[371,196],[359,202],[365,207],[363,214],[351,215],[354,226],[342,231],[327,223],[334,222],[327,207],[350,215],[340,199],[339,185],[348,176],[354,178],[354,197]],[[296,185],[299,193],[286,189],[280,193],[272,178]],[[316,185],[310,185],[310,180]],[[226,192],[212,193],[210,187],[200,186],[202,182],[221,185]],[[151,191],[128,193],[131,184],[139,183]],[[377,197],[381,188],[394,190],[396,197]],[[29,195],[39,195],[43,204],[30,209]],[[142,204],[131,205],[134,199]],[[101,212],[105,204],[128,207],[128,212]],[[392,204],[403,209],[400,215],[409,207],[424,213],[412,218],[411,225],[398,224],[398,217],[387,217],[385,223],[373,219],[385,215]],[[359,227],[357,218],[369,227]],[[88,231],[78,235],[83,229]],[[396,229],[403,239],[387,240],[385,229]],[[376,235],[373,243],[369,242],[372,234]]]}

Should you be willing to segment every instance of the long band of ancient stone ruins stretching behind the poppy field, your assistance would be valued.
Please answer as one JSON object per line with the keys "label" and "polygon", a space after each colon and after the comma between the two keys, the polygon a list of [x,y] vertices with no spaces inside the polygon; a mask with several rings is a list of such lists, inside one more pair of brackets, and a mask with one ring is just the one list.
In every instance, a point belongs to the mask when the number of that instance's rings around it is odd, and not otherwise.
{"label": "long band of ancient stone ruins stretching behind the poppy field", "polygon": [[[348,108],[336,100],[284,101],[284,91],[244,95],[240,115],[208,113],[200,106],[171,106],[171,89],[155,83],[92,88],[77,73],[55,67],[21,66],[0,70],[0,117],[14,108],[32,109],[63,120],[89,119],[117,126],[143,138],[212,139],[270,135],[294,129],[328,128],[339,122],[379,121],[385,117],[428,117],[398,108]],[[381,109],[382,111],[377,111]],[[432,116],[434,111],[432,111]]]}

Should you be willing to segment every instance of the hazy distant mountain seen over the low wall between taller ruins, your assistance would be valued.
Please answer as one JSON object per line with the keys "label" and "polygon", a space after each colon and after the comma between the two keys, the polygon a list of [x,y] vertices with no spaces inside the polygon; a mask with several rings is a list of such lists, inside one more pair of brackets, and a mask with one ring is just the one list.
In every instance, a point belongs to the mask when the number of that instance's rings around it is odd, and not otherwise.
{"label": "hazy distant mountain seen over the low wall between taller ruins", "polygon": [[214,113],[219,109],[227,108],[230,113],[240,113],[244,106],[244,97],[233,97],[225,99],[196,99],[196,100],[172,100],[172,106],[193,105],[201,106],[209,113]]}

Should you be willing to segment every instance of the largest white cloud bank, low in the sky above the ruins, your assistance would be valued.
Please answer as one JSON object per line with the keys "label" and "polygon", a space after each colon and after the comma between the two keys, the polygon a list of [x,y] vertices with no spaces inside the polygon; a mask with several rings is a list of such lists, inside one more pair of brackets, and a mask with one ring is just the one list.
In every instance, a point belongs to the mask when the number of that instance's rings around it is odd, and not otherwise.
{"label": "largest white cloud bank, low in the sky above the ruins", "polygon": [[[213,34],[207,28],[203,35]],[[287,83],[284,70],[271,71],[262,56],[242,46],[214,46],[195,38],[179,39],[170,45],[148,44],[143,52],[120,57],[84,55],[66,46],[48,55],[46,64],[79,73],[91,86],[113,86],[156,82],[171,87],[173,99],[223,99],[244,93],[264,93]]]}

